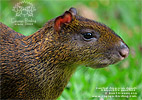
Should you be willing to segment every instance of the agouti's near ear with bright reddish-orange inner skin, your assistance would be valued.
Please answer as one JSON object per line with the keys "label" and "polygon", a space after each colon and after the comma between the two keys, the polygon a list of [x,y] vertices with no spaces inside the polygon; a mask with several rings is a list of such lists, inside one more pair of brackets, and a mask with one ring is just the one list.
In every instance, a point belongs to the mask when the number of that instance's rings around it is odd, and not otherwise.
{"label": "agouti's near ear with bright reddish-orange inner skin", "polygon": [[66,11],[63,15],[57,17],[54,22],[54,29],[59,32],[63,24],[70,23],[73,19],[71,12]]}

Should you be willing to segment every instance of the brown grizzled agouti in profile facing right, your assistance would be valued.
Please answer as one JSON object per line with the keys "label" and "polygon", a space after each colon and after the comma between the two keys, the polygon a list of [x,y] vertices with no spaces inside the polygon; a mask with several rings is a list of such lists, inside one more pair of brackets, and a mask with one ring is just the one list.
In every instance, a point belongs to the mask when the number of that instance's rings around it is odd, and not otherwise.
{"label": "brown grizzled agouti in profile facing right", "polygon": [[75,8],[30,36],[0,23],[1,99],[57,99],[78,65],[101,68],[128,54],[114,31]]}

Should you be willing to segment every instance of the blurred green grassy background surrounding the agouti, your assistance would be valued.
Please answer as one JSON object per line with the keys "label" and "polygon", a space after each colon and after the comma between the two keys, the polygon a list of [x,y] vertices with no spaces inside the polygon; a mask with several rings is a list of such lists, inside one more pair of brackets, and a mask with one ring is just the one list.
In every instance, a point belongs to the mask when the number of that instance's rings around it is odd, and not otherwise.
{"label": "blurred green grassy background surrounding the agouti", "polygon": [[[24,1],[24,0],[21,0]],[[106,24],[130,48],[128,58],[107,68],[92,69],[79,66],[58,100],[142,100],[142,1],[141,0],[26,0],[35,7],[33,25],[14,25],[17,18],[13,7],[19,0],[0,0],[0,22],[15,31],[30,35],[48,20],[75,7],[82,16]],[[24,17],[20,17],[23,19]],[[17,18],[18,20],[18,18]],[[137,88],[134,98],[95,98],[106,95],[96,88]]]}

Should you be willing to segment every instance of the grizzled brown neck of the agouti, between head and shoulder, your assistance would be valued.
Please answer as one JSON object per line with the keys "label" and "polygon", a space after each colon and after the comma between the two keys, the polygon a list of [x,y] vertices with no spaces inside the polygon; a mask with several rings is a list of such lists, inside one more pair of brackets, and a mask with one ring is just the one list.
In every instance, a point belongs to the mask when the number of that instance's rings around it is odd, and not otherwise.
{"label": "grizzled brown neck of the agouti, between head and shoulder", "polygon": [[38,85],[40,92],[48,95],[46,99],[58,97],[76,69],[64,51],[68,45],[53,41],[57,40],[53,38],[58,37],[54,37],[52,25],[50,21],[35,34],[23,38],[25,49],[21,51],[25,52],[22,57],[26,54],[24,59],[28,63],[28,66],[24,66],[25,75],[34,81],[33,84]]}

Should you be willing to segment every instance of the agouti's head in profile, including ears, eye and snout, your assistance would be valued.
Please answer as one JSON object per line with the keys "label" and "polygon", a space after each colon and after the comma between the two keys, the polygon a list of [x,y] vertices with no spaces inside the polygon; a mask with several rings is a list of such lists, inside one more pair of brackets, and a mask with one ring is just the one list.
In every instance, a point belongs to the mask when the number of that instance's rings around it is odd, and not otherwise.
{"label": "agouti's head in profile, including ears, eye and snout", "polygon": [[75,8],[55,19],[54,30],[58,42],[65,47],[65,57],[72,57],[71,63],[101,68],[129,54],[128,46],[113,30],[77,15]]}

